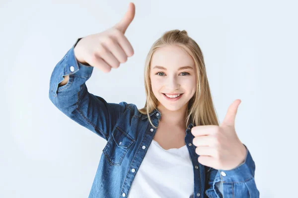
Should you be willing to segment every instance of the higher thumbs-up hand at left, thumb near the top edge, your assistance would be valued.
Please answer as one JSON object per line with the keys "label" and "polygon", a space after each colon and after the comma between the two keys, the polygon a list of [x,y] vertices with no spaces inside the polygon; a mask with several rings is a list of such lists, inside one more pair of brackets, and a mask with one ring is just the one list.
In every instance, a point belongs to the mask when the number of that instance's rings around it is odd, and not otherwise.
{"label": "higher thumbs-up hand at left, thumb near the top edge", "polygon": [[134,49],[124,33],[134,17],[135,4],[130,2],[124,17],[116,25],[79,40],[74,47],[77,61],[97,67],[105,73],[126,62],[127,58],[134,54]]}

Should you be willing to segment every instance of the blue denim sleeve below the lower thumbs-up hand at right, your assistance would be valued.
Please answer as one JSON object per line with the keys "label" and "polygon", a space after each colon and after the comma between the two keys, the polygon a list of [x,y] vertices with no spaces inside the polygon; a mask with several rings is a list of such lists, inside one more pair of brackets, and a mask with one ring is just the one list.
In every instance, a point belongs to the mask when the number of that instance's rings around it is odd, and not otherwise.
{"label": "blue denim sleeve below the lower thumbs-up hand at right", "polygon": [[231,170],[209,169],[207,174],[208,189],[205,191],[209,198],[260,197],[260,192],[254,180],[255,163],[248,148],[246,146],[245,148],[245,160],[237,167]]}

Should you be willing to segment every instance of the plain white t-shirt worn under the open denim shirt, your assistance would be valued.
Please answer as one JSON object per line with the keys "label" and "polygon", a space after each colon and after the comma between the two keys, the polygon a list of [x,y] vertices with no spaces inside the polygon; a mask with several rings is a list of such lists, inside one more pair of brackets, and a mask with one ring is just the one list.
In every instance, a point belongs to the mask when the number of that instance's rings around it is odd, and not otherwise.
{"label": "plain white t-shirt worn under the open denim shirt", "polygon": [[152,140],[128,198],[192,198],[194,172],[187,145],[163,149]]}

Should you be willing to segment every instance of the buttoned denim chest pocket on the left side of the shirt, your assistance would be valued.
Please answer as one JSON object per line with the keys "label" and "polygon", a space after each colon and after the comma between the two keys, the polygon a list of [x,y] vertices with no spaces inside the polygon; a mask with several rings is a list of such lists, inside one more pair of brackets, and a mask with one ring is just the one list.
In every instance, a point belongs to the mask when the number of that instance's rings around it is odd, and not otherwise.
{"label": "buttoned denim chest pocket on the left side of the shirt", "polygon": [[102,152],[112,166],[119,166],[135,140],[119,126],[116,126]]}

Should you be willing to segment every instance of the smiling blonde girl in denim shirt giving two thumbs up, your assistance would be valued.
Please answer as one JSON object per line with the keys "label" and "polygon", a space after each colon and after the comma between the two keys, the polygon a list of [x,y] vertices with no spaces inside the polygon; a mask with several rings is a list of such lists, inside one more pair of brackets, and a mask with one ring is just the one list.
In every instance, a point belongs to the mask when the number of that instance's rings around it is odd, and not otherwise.
{"label": "smiling blonde girl in denim shirt giving two thumbs up", "polygon": [[144,108],[88,92],[94,67],[108,73],[134,54],[124,36],[134,16],[130,3],[115,26],[78,39],[51,75],[55,106],[107,141],[89,198],[258,198],[255,163],[234,129],[241,100],[219,124],[203,53],[185,30],[149,50]]}

